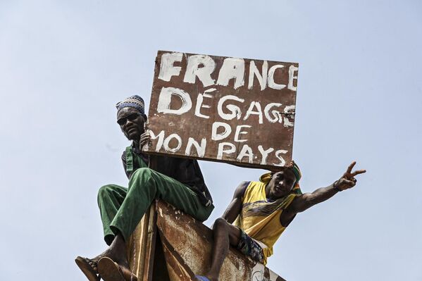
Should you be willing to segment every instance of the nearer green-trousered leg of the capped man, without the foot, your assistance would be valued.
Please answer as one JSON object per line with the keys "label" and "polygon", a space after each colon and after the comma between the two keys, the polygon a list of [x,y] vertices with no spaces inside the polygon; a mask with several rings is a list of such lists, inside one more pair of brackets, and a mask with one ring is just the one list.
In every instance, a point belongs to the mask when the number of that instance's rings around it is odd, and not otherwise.
{"label": "nearer green-trousered leg of the capped man, without the foot", "polygon": [[139,168],[129,181],[128,194],[111,222],[111,230],[127,240],[154,199],[163,199],[197,220],[209,217],[213,206],[205,207],[197,194],[171,177]]}

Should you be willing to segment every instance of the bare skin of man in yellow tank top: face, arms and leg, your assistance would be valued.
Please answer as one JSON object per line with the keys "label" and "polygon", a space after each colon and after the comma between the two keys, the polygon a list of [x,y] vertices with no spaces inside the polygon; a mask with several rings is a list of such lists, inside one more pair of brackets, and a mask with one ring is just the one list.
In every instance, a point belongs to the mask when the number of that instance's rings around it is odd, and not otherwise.
{"label": "bare skin of man in yellow tank top: face, arms and leg", "polygon": [[[330,199],[342,190],[350,189],[356,185],[356,175],[366,173],[366,170],[356,170],[352,172],[356,162],[352,162],[347,168],[346,173],[336,180],[333,185],[316,189],[314,192],[305,193],[297,196],[280,215],[280,227],[287,227],[297,213],[306,211],[311,206],[315,206],[325,200]],[[271,180],[266,185],[267,199],[279,199],[290,194],[296,183],[296,177],[290,169],[285,169],[273,173]],[[228,208],[226,208],[223,216],[218,218],[213,225],[213,256],[211,258],[211,268],[206,273],[206,277],[211,281],[217,281],[220,274],[221,266],[225,256],[228,254],[229,246],[237,246],[240,239],[239,228],[232,225],[242,208],[242,197],[249,182],[242,182],[236,189],[233,199]]]}

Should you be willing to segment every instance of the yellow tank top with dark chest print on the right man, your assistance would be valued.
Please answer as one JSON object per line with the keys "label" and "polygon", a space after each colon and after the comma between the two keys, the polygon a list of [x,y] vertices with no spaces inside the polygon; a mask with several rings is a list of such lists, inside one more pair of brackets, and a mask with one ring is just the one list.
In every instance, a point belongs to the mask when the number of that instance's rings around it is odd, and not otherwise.
{"label": "yellow tank top with dark chest print on the right man", "polygon": [[242,198],[242,211],[235,225],[263,248],[263,264],[273,254],[273,246],[286,227],[280,223],[280,214],[297,194],[289,194],[275,201],[267,201],[266,183],[250,182]]}

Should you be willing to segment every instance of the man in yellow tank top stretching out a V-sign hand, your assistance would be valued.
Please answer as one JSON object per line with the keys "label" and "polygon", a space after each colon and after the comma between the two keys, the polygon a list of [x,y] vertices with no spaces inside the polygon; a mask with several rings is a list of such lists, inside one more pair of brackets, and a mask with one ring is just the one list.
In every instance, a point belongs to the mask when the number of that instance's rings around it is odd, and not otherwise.
{"label": "man in yellow tank top stretching out a V-sign hand", "polygon": [[[277,173],[266,173],[259,182],[242,182],[222,218],[213,225],[211,268],[197,280],[216,281],[228,254],[229,244],[254,261],[266,264],[273,254],[273,245],[297,213],[330,199],[334,194],[356,185],[356,175],[366,170],[352,168],[328,187],[302,194],[299,167],[292,161]],[[234,224],[232,224],[235,222]]]}

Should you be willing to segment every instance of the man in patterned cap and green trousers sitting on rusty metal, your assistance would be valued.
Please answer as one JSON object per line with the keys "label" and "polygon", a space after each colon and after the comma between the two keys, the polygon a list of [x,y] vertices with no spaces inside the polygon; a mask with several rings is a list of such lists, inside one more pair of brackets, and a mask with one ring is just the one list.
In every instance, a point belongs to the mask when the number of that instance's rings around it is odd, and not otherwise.
{"label": "man in patterned cap and green trousers sitting on rusty metal", "polygon": [[129,187],[105,185],[98,192],[98,205],[109,248],[94,258],[75,259],[89,281],[136,281],[131,273],[125,242],[154,199],[162,199],[193,218],[204,221],[213,203],[196,160],[142,154],[149,140],[144,132],[147,115],[140,96],[130,96],[116,105],[117,123],[132,141],[122,160]]}

